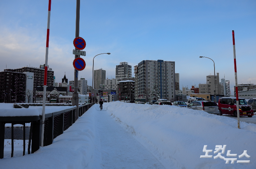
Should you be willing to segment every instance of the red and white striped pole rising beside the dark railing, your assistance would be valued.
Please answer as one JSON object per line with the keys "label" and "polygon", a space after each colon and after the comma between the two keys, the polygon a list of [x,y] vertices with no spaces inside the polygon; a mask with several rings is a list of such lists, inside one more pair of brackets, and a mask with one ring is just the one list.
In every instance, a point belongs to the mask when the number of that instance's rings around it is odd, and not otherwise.
{"label": "red and white striped pole rising beside the dark railing", "polygon": [[44,147],[44,118],[45,118],[47,69],[48,69],[48,49],[49,49],[51,3],[52,3],[52,0],[49,0],[48,20],[47,20],[47,37],[46,37],[46,51],[45,51],[45,66],[44,66],[44,95],[43,95],[42,126],[41,126],[41,147]]}

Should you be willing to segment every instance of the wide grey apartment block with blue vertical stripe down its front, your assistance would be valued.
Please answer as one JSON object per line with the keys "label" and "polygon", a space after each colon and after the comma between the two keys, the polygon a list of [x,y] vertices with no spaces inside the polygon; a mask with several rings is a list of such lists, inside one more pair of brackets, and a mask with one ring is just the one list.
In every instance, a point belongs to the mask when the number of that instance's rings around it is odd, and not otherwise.
{"label": "wide grey apartment block with blue vertical stripe down its front", "polygon": [[160,99],[175,99],[174,61],[143,60],[138,63],[138,98],[144,98],[144,91],[152,90],[155,83]]}

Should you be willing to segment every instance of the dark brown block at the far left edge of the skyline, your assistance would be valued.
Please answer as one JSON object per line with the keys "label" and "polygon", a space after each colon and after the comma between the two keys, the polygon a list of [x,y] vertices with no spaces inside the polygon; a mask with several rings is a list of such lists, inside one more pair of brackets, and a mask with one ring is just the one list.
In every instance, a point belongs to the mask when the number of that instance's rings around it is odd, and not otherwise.
{"label": "dark brown block at the far left edge of the skyline", "polygon": [[13,72],[13,69],[0,72],[0,102],[25,102],[25,82],[25,73]]}

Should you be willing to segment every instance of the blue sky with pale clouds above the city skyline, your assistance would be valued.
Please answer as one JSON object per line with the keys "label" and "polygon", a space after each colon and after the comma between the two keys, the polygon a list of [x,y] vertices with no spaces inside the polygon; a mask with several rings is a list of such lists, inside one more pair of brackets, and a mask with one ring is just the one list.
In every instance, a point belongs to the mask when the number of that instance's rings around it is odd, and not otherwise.
{"label": "blue sky with pale clouds above the city skyline", "polygon": [[[48,65],[56,82],[65,72],[74,79],[72,44],[75,38],[75,0],[52,0]],[[45,62],[48,1],[0,1],[0,71]],[[235,31],[238,83],[256,83],[256,1],[84,1],[80,8],[80,36],[87,43],[79,77],[92,84],[94,70],[115,77],[121,61],[175,61],[180,86],[206,82],[216,73],[235,85],[232,30]],[[133,75],[134,76],[134,75]]]}

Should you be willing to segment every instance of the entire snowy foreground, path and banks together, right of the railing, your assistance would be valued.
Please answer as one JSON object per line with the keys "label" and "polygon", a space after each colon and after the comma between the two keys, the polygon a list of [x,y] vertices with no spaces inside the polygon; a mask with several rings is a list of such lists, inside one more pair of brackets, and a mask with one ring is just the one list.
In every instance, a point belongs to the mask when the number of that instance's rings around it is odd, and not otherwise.
{"label": "entire snowy foreground, path and banks together, right of the railing", "polygon": [[[1,168],[256,168],[255,124],[241,122],[238,129],[236,119],[169,105],[116,101],[104,103],[102,111],[98,106],[90,108],[52,145],[31,155],[0,159]],[[212,150],[211,158],[200,158],[205,155],[204,145]],[[220,154],[225,159],[250,163],[225,164],[224,159],[214,159],[216,145],[226,145]],[[228,150],[237,156],[228,157]],[[239,159],[244,150],[250,158]]]}

